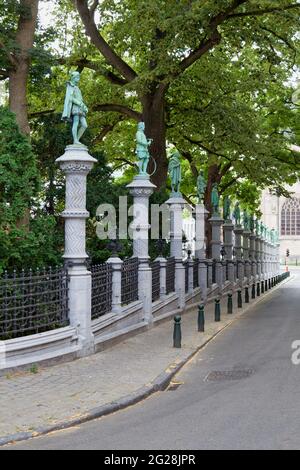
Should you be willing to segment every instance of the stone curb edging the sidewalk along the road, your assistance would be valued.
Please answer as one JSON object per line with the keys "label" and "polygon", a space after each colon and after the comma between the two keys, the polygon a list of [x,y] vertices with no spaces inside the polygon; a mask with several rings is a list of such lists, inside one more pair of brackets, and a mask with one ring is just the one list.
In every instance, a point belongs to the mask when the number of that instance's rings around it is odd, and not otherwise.
{"label": "stone curb edging the sidewalk along the road", "polygon": [[137,404],[138,402],[148,398],[150,395],[153,395],[156,392],[161,392],[166,390],[168,385],[170,384],[172,378],[182,369],[185,364],[187,364],[201,349],[203,349],[208,343],[210,343],[216,336],[218,336],[220,333],[222,333],[226,328],[232,325],[235,321],[237,321],[240,316],[244,315],[246,312],[248,312],[252,307],[255,307],[260,301],[264,300],[268,294],[271,294],[272,292],[275,292],[278,288],[289,282],[291,279],[293,279],[294,276],[290,276],[282,283],[279,285],[275,286],[272,290],[269,290],[268,292],[265,293],[264,296],[261,296],[259,299],[257,299],[256,302],[250,303],[242,312],[240,312],[240,315],[233,318],[229,323],[224,325],[219,331],[214,333],[210,338],[208,338],[203,344],[198,346],[194,351],[192,351],[188,356],[176,364],[175,366],[172,365],[172,370],[165,370],[161,374],[159,374],[156,379],[149,385],[144,385],[143,387],[139,388],[135,392],[131,393],[130,395],[126,395],[124,397],[121,397],[118,400],[115,400],[113,402],[107,403],[105,405],[92,408],[89,412],[86,414],[74,418],[74,419],[69,419],[64,422],[54,424],[52,426],[41,426],[37,427],[35,431],[32,432],[18,432],[16,434],[9,434],[7,436],[0,436],[0,447],[5,446],[7,444],[13,444],[15,442],[20,442],[20,441],[26,441],[29,439],[33,439],[35,437],[41,437],[46,434],[49,434],[51,432],[55,431],[60,431],[63,429],[68,429],[72,428],[75,426],[79,426],[81,424],[87,423],[89,421],[93,421],[94,419],[98,419],[107,415],[110,415],[112,413],[115,413],[117,411],[124,410],[125,408],[128,408],[130,406],[133,406]]}

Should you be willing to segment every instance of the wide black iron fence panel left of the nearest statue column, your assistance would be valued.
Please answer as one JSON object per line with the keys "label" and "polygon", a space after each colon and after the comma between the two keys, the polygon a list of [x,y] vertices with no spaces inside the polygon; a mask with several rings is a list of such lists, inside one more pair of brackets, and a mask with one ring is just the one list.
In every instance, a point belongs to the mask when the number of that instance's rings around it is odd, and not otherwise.
{"label": "wide black iron fence panel left of the nearest statue column", "polygon": [[61,328],[68,320],[65,269],[44,269],[0,278],[0,340]]}

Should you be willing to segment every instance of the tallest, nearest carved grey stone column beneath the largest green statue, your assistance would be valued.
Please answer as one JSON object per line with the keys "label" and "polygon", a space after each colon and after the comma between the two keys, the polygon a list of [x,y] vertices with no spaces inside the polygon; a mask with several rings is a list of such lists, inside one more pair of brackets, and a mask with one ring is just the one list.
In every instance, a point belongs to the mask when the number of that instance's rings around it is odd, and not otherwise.
{"label": "tallest, nearest carved grey stone column beneath the largest green statue", "polygon": [[69,320],[77,329],[81,355],[94,352],[91,329],[92,278],[86,267],[86,178],[97,160],[84,145],[68,145],[56,160],[66,175],[64,259],[69,275]]}

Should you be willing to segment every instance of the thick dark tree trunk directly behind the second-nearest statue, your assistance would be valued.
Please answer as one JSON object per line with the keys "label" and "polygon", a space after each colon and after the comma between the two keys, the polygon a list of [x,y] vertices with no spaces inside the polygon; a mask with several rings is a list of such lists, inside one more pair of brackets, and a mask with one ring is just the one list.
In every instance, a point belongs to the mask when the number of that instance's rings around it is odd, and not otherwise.
{"label": "thick dark tree trunk directly behind the second-nearest statue", "polygon": [[[166,152],[166,118],[165,98],[155,94],[146,95],[141,99],[143,104],[143,119],[146,127],[146,135],[153,139],[150,147],[151,156],[156,163],[156,171],[151,176],[151,181],[158,189],[166,185],[168,175],[168,159]],[[149,173],[155,169],[153,162],[149,164]]]}

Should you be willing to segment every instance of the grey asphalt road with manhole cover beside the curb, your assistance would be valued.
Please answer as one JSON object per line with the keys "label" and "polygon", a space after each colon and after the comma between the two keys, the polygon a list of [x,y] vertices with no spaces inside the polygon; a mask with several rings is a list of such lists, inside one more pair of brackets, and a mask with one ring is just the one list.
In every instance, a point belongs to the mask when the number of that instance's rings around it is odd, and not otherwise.
{"label": "grey asphalt road with manhole cover beside the curb", "polygon": [[176,377],[177,389],[7,448],[299,449],[299,283],[297,275],[218,335]]}

